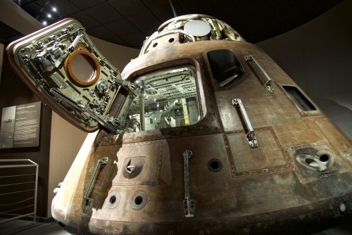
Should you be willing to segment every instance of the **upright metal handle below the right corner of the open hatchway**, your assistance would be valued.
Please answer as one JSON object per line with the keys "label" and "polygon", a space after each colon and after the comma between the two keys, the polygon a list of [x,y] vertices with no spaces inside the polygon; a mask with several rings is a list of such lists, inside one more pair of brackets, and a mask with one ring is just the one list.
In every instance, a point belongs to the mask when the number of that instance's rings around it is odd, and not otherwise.
{"label": "upright metal handle below the right corner of the open hatchway", "polygon": [[185,150],[182,154],[184,160],[184,217],[194,217],[196,209],[196,201],[189,196],[189,160],[193,158],[193,153],[190,150]]}

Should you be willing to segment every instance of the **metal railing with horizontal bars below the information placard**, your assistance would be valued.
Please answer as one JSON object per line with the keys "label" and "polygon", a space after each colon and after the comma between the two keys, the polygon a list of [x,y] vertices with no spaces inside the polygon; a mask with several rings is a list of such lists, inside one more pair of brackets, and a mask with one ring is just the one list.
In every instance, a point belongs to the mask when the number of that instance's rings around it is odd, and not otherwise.
{"label": "metal railing with horizontal bars below the information placard", "polygon": [[[21,162],[25,164],[21,164]],[[30,169],[31,167],[33,167],[33,170]],[[16,168],[18,168],[17,171],[15,170]],[[22,170],[23,168],[27,168],[27,170]],[[11,174],[10,170],[12,170],[13,174]],[[32,187],[33,184],[34,187]],[[37,189],[37,163],[30,159],[0,159],[0,197],[3,197],[0,198],[0,217],[6,217],[5,220],[0,220],[0,224],[29,216],[33,216],[33,222],[35,223]],[[29,208],[33,208],[33,210],[28,212]],[[14,213],[21,210],[25,211],[25,214]]]}

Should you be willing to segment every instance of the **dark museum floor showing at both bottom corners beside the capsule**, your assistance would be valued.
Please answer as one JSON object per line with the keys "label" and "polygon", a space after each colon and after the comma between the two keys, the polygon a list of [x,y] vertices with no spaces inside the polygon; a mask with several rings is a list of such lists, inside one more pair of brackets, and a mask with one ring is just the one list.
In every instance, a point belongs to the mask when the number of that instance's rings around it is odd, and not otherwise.
{"label": "dark museum floor showing at both bottom corners beside the capsule", "polygon": [[[338,227],[333,227],[325,231],[320,231],[316,234],[311,235],[351,235],[352,224],[351,220],[342,222]],[[1,235],[69,235],[68,231],[65,231],[58,225],[57,222],[33,224],[31,221],[26,220],[14,220],[0,224]]]}

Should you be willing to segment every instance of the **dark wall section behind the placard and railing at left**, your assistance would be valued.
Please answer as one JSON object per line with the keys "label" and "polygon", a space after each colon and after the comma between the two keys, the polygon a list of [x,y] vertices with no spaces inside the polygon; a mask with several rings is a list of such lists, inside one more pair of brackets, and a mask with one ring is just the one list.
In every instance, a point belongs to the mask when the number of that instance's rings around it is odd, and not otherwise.
{"label": "dark wall section behind the placard and railing at left", "polygon": [[[0,81],[0,110],[4,107],[17,106],[25,103],[33,103],[39,101],[37,96],[25,86],[20,78],[13,72],[6,54],[4,53]],[[1,112],[0,112],[1,120]],[[47,216],[47,195],[48,195],[48,176],[49,176],[49,148],[50,148],[50,129],[51,129],[51,109],[42,103],[42,116],[40,124],[40,140],[38,147],[32,148],[7,148],[0,149],[0,159],[30,159],[39,164],[39,177],[38,177],[38,197],[37,197],[37,215],[39,217]],[[26,169],[15,168],[11,170],[13,174],[23,174],[27,172]],[[21,190],[23,186],[20,185],[13,190]],[[23,195],[25,196],[25,195]],[[9,195],[15,198],[16,195]],[[7,198],[7,200],[11,199]],[[1,203],[5,203],[1,198]],[[9,200],[11,201],[11,200]],[[30,203],[30,202],[28,202]],[[13,206],[13,208],[25,207],[25,204]],[[13,211],[12,213],[23,214],[31,212],[32,208],[24,210]]]}

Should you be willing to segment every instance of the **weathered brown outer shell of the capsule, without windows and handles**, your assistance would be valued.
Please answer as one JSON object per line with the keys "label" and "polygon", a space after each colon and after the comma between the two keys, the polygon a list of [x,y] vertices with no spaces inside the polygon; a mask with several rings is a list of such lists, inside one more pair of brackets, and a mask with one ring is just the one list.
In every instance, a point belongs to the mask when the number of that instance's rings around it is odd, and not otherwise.
{"label": "weathered brown outer shell of the capsule, without windows and handles", "polygon": [[[206,52],[230,49],[245,75],[220,88],[210,72]],[[275,94],[263,87],[244,56],[254,55],[273,80]],[[56,220],[81,231],[99,234],[248,234],[305,229],[311,222],[348,214],[352,207],[352,144],[320,111],[303,112],[282,89],[297,85],[256,46],[246,42],[206,41],[178,44],[136,58],[122,72],[137,75],[191,64],[196,67],[202,103],[201,122],[188,127],[154,129],[109,136],[103,131],[89,153],[77,156],[53,203]],[[232,99],[244,103],[258,140],[249,148]],[[298,165],[299,148],[329,149],[334,164],[325,172]],[[184,217],[184,163],[191,150],[189,191],[195,216]],[[109,157],[94,186],[94,203],[82,213],[84,189],[96,160]],[[141,157],[142,173],[122,174],[126,158]],[[219,172],[208,170],[218,158]],[[142,210],[132,210],[132,196],[146,194]],[[108,208],[108,195],[120,195]],[[339,211],[340,203],[347,207]],[[298,226],[299,225],[299,226]]]}

